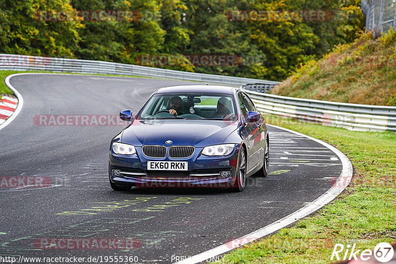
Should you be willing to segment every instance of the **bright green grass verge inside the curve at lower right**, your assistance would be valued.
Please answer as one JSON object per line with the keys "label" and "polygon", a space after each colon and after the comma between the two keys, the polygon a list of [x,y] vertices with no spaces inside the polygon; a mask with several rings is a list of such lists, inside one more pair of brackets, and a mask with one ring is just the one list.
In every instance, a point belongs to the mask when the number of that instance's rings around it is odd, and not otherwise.
{"label": "bright green grass verge inside the curve at lower right", "polygon": [[225,255],[225,263],[334,263],[330,259],[336,243],[373,250],[379,242],[394,242],[396,134],[310,124],[282,127],[322,139],[345,153],[354,168],[351,184],[316,214]]}

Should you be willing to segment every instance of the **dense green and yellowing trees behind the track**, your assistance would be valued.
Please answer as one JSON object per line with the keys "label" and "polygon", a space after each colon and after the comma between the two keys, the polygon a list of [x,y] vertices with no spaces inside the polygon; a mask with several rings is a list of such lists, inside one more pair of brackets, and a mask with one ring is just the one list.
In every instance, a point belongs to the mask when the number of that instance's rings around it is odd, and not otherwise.
{"label": "dense green and yellowing trees behind the track", "polygon": [[[233,66],[183,59],[169,69],[282,80],[296,65],[351,42],[364,26],[359,0],[1,0],[0,53],[136,64],[145,54],[228,54]],[[43,10],[133,10],[132,21],[50,21]],[[230,10],[330,10],[326,21],[230,20]],[[155,63],[151,66],[159,67]]]}

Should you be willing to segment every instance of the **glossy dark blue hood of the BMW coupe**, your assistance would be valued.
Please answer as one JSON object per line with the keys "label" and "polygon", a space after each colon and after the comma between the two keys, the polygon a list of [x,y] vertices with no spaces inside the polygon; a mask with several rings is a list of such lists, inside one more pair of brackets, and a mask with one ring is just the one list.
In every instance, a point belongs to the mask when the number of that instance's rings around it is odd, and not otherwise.
{"label": "glossy dark blue hood of the BMW coupe", "polygon": [[220,144],[238,128],[238,121],[222,120],[134,120],[122,133],[122,142],[134,146]]}

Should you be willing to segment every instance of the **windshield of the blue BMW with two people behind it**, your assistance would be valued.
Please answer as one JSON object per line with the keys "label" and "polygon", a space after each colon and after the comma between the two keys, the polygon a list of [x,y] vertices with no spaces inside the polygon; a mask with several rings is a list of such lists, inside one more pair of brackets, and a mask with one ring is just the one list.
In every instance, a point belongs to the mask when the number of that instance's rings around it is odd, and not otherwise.
{"label": "windshield of the blue BMW with two people behind it", "polygon": [[158,93],[137,119],[236,120],[234,98],[221,93]]}

